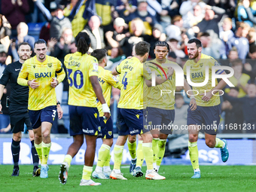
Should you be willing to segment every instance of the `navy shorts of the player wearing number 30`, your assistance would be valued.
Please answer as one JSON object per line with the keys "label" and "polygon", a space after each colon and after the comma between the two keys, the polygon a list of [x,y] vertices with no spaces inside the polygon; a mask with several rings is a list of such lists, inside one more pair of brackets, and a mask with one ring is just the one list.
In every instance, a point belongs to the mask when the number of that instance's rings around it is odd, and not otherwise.
{"label": "navy shorts of the player wearing number 30", "polygon": [[98,136],[100,123],[97,108],[69,105],[70,136]]}

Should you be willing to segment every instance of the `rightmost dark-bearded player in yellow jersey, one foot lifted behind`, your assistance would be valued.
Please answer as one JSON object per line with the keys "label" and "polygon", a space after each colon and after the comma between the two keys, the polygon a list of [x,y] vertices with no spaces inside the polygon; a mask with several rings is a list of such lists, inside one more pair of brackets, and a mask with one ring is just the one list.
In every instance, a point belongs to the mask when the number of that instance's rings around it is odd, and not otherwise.
{"label": "rightmost dark-bearded player in yellow jersey, one foot lifted behind", "polygon": [[[188,149],[190,161],[194,169],[192,178],[200,178],[200,169],[198,163],[197,139],[199,130],[205,132],[206,145],[209,148],[221,148],[221,159],[226,162],[229,153],[227,150],[227,141],[216,137],[218,125],[221,119],[221,105],[218,90],[226,86],[226,82],[221,79],[218,83],[215,80],[216,87],[212,87],[212,66],[219,66],[219,63],[211,56],[201,53],[202,44],[197,38],[192,38],[187,42],[187,53],[189,60],[184,65],[183,71],[186,78],[188,75],[193,83],[202,83],[206,78],[206,68],[209,68],[209,81],[203,87],[193,86],[195,98],[197,100],[197,109],[187,110],[187,125],[189,133]],[[187,73],[187,69],[190,73]],[[216,74],[226,74],[223,70],[218,70]],[[198,93],[198,94],[197,94]],[[215,95],[212,95],[215,94]]]}

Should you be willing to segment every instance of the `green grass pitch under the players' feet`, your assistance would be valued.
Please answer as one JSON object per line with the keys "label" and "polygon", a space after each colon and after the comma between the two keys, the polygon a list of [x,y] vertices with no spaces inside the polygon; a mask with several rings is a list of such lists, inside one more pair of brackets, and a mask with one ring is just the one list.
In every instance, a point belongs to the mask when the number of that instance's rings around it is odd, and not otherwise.
{"label": "green grass pitch under the players' feet", "polygon": [[[121,168],[128,178],[120,180],[99,180],[100,186],[79,186],[83,166],[71,166],[66,184],[60,184],[58,179],[59,166],[50,166],[49,178],[33,178],[32,166],[20,166],[20,176],[11,177],[13,166],[0,165],[0,191],[20,192],[58,192],[58,191],[100,191],[100,192],[169,192],[169,191],[256,191],[255,166],[200,166],[200,179],[190,178],[193,175],[191,166],[161,166],[160,175],[166,177],[163,181],[133,178],[129,166]],[[142,167],[145,172],[146,167]]]}

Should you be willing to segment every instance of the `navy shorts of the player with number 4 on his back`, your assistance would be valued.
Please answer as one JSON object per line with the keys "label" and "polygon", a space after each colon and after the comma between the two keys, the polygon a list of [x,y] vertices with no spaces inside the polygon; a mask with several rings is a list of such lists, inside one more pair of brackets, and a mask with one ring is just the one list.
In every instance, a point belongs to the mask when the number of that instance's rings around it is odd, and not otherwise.
{"label": "navy shorts of the player with number 4 on his back", "polygon": [[117,128],[119,136],[134,136],[148,132],[143,110],[117,108]]}

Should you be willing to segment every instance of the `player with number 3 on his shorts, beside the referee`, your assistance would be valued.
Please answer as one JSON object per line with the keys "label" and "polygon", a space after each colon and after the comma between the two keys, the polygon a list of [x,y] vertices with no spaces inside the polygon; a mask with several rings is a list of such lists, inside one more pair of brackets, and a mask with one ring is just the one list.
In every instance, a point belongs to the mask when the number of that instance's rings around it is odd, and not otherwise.
{"label": "player with number 3 on his shorts, beside the referee", "polygon": [[[47,160],[50,152],[50,129],[62,109],[56,106],[55,87],[65,78],[65,72],[59,59],[47,56],[47,45],[43,39],[35,41],[36,56],[23,63],[17,83],[29,85],[29,117],[35,134],[35,149],[41,161],[41,178],[48,177]],[[57,78],[55,76],[57,75]]]}

